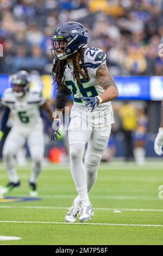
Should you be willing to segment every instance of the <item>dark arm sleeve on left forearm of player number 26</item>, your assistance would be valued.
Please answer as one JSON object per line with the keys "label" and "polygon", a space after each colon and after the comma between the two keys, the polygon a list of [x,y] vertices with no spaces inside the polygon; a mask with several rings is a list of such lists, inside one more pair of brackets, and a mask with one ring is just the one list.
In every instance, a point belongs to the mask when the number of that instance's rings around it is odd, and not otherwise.
{"label": "dark arm sleeve on left forearm of player number 26", "polygon": [[65,87],[64,89],[58,89],[55,99],[55,108],[61,109],[66,106],[67,101],[70,99],[71,90]]}

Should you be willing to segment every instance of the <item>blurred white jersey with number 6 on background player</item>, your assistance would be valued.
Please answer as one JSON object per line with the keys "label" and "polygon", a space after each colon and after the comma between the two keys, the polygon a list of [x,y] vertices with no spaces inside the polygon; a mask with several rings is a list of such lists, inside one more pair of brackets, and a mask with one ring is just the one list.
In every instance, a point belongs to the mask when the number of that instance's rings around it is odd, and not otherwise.
{"label": "blurred white jersey with number 6 on background player", "polygon": [[13,118],[12,128],[25,134],[37,129],[43,130],[40,106],[45,101],[40,91],[29,90],[22,99],[18,99],[12,88],[8,88],[2,96],[2,104],[10,109]]}

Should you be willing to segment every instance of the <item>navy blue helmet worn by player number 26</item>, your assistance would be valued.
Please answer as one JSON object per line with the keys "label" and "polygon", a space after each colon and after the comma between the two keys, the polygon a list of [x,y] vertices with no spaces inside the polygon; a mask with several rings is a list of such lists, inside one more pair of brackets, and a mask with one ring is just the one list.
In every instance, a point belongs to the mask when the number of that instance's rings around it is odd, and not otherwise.
{"label": "navy blue helmet worn by player number 26", "polygon": [[[67,56],[77,52],[80,48],[87,47],[87,29],[78,22],[69,21],[61,24],[55,29],[52,36],[51,52],[54,58],[65,59]],[[60,42],[66,42],[66,46],[59,47]],[[57,48],[64,50],[63,53],[56,54]]]}

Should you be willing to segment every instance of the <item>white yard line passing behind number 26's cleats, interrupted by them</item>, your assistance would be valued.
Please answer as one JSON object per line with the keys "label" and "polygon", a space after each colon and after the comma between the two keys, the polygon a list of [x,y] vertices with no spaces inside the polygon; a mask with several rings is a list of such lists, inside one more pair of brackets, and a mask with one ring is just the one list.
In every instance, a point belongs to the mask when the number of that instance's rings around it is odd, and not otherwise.
{"label": "white yard line passing behind number 26's cleats, interrupted by them", "polygon": [[[0,208],[4,209],[52,209],[52,210],[67,210],[67,207],[57,207],[57,206],[18,206],[18,205],[0,205]],[[163,209],[134,209],[134,208],[93,208],[94,210],[100,210],[100,211],[149,211],[149,212],[163,212]]]}

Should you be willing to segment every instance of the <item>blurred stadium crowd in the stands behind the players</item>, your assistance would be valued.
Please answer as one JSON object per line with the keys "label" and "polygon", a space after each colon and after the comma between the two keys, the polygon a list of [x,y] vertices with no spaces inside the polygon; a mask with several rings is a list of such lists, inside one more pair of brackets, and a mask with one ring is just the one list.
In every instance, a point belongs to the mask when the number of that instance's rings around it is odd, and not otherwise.
{"label": "blurred stadium crowd in the stands behind the players", "polygon": [[1,74],[51,74],[51,37],[70,20],[89,29],[89,46],[106,52],[114,76],[162,75],[163,0],[1,0]]}

